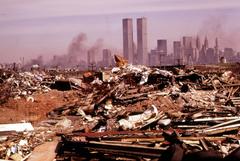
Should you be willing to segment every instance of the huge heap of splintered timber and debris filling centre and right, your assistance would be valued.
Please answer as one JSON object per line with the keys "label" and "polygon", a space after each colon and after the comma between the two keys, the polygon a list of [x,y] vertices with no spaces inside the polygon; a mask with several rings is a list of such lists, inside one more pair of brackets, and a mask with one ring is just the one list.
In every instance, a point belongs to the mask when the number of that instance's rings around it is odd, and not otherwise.
{"label": "huge heap of splintered timber and debris filling centre and right", "polygon": [[38,125],[61,136],[57,160],[239,159],[237,75],[115,59],[117,67],[100,75],[55,81],[79,95]]}

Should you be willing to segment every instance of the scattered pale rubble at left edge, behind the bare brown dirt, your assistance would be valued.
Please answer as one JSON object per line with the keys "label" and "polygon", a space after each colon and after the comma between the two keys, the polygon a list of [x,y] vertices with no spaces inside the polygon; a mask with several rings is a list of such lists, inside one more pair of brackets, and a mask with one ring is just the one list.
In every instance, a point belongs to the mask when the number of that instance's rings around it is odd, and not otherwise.
{"label": "scattered pale rubble at left edge, behind the bare brown dirt", "polygon": [[[49,80],[54,81],[44,72],[14,72],[10,70],[0,72],[1,100],[6,102],[8,98],[19,99],[30,97],[36,91],[48,92]],[[3,102],[3,103],[4,103]]]}

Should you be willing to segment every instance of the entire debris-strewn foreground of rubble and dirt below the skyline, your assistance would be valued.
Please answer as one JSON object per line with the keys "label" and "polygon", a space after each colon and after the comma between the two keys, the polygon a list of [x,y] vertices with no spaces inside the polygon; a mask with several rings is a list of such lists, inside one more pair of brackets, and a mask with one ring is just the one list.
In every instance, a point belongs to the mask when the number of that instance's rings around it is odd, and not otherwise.
{"label": "entire debris-strewn foreground of rubble and dirt below the skyline", "polygon": [[0,70],[0,159],[58,140],[56,160],[240,160],[239,64]]}

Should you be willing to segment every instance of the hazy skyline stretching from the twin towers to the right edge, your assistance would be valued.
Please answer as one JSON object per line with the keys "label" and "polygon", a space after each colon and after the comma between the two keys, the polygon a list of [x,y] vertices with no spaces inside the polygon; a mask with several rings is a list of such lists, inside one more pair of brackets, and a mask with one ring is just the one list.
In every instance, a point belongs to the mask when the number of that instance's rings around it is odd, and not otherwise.
{"label": "hazy skyline stretching from the twin towers to the right edge", "polygon": [[157,47],[148,51],[147,19],[137,19],[137,50],[133,41],[133,20],[125,18],[123,24],[123,56],[132,64],[149,66],[216,64],[221,62],[239,62],[240,53],[232,48],[219,49],[218,39],[209,46],[208,38],[201,43],[200,38],[183,36],[182,41],[173,41],[173,53],[169,53],[166,39],[157,40]]}

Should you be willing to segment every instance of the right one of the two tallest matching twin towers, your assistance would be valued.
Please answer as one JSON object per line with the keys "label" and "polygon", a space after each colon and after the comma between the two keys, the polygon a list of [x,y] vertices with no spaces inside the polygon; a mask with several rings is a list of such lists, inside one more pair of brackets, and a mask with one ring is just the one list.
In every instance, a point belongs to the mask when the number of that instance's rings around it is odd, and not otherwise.
{"label": "right one of the two tallest matching twin towers", "polygon": [[147,64],[147,18],[137,19],[137,60],[138,64]]}

